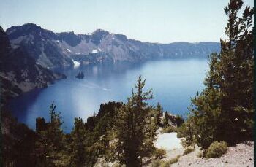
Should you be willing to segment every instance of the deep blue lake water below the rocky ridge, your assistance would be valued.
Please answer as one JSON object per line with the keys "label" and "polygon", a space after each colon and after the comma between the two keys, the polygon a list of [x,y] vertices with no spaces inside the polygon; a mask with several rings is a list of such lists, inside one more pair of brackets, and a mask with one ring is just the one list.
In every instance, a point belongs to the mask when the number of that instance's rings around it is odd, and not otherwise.
{"label": "deep blue lake water below the rocky ridge", "polygon": [[[20,122],[35,128],[37,117],[49,120],[48,109],[55,101],[56,111],[61,112],[64,131],[72,130],[74,117],[87,117],[97,113],[99,105],[108,101],[127,101],[136,79],[141,74],[146,88],[152,88],[154,98],[164,110],[186,117],[190,98],[203,90],[203,79],[208,69],[207,59],[168,59],[144,63],[108,63],[80,66],[62,71],[67,79],[57,81],[48,88],[33,90],[15,98],[11,109]],[[84,79],[75,79],[79,71]]]}

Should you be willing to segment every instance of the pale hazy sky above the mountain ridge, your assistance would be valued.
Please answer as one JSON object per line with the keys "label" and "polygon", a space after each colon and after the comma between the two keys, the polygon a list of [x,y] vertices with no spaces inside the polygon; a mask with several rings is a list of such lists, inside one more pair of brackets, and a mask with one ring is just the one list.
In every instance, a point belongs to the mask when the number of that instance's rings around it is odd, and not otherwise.
{"label": "pale hazy sky above the mountain ridge", "polygon": [[[0,0],[0,26],[36,23],[55,32],[97,28],[143,42],[219,42],[228,0]],[[253,6],[253,0],[244,1]]]}

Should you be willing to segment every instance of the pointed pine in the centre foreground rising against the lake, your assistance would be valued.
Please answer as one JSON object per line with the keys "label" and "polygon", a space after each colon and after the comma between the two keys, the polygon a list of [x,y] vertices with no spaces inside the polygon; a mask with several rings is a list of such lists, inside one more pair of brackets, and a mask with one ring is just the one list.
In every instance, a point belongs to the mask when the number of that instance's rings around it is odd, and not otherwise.
{"label": "pointed pine in the centre foreground rising against the lake", "polygon": [[[151,107],[146,101],[151,99],[151,89],[143,93],[145,80],[138,77],[135,85],[136,92],[128,98],[127,104],[118,110],[116,115],[116,143],[113,144],[113,152],[116,152],[116,159],[129,166],[141,166],[142,155],[148,152],[148,146],[153,147],[155,138],[154,128],[157,123],[152,123],[150,116]],[[153,119],[154,120],[154,119]],[[147,152],[144,148],[147,148]]]}

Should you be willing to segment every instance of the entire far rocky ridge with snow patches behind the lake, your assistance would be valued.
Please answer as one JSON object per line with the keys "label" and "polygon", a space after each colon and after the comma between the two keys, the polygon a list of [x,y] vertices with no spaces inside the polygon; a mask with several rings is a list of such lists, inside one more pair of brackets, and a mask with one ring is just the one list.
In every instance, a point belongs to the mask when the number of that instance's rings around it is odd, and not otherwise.
{"label": "entire far rocky ridge with snow patches behind the lake", "polygon": [[206,57],[219,52],[217,42],[157,44],[127,39],[98,29],[91,34],[54,33],[33,23],[7,29],[12,47],[23,46],[38,64],[46,68],[104,61],[145,61],[152,58]]}

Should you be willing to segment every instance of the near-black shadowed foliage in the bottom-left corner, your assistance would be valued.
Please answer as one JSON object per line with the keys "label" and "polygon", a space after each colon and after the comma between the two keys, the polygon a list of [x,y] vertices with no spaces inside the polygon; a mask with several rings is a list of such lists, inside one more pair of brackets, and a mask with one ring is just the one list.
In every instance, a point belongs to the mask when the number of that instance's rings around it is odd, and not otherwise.
{"label": "near-black shadowed foliage in the bottom-left corner", "polygon": [[3,166],[35,166],[37,133],[18,123],[5,109],[1,111],[1,130]]}

